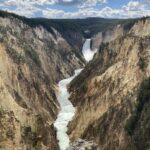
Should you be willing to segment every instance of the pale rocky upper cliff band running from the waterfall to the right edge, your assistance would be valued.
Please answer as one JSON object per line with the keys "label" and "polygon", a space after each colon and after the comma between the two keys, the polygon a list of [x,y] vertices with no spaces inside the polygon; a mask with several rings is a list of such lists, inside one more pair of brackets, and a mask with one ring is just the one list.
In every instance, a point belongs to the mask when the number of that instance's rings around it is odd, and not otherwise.
{"label": "pale rocky upper cliff band running from the waterfall to the right edge", "polygon": [[137,36],[149,35],[149,18],[120,21],[117,25],[98,32],[92,37],[92,49],[99,49],[102,43],[111,42],[126,33],[133,33]]}

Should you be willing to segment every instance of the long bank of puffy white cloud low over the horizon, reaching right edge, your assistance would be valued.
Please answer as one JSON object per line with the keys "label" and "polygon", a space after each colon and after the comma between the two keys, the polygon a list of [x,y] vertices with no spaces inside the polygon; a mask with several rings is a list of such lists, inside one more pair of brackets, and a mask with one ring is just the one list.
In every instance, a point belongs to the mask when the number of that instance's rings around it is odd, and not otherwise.
{"label": "long bank of puffy white cloud low over the horizon, reaching right edge", "polygon": [[85,18],[85,17],[105,17],[105,18],[135,18],[148,16],[149,9],[145,9],[146,3],[139,1],[130,1],[127,5],[120,9],[113,9],[111,7],[104,7],[97,9],[94,7],[80,8],[76,12],[65,12],[57,9],[43,10],[43,16],[47,18]]}

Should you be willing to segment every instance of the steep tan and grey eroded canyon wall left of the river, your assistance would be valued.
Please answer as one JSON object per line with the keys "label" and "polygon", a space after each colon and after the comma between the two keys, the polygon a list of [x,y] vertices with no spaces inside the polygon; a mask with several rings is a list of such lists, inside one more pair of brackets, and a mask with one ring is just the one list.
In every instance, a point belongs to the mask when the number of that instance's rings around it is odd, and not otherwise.
{"label": "steep tan and grey eroded canyon wall left of the river", "polygon": [[0,149],[59,149],[55,85],[84,60],[52,30],[0,17]]}

